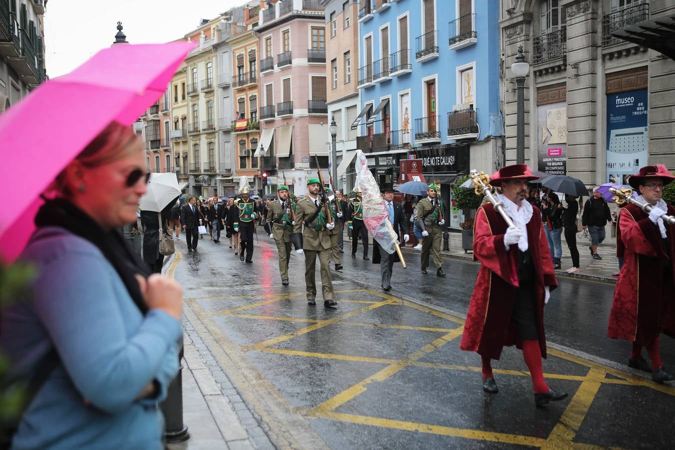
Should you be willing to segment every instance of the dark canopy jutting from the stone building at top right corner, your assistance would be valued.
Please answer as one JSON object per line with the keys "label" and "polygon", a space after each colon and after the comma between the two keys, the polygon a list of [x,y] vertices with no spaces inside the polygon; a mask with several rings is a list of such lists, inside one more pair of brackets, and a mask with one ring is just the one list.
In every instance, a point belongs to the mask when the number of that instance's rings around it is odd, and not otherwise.
{"label": "dark canopy jutting from the stone building at top right corner", "polygon": [[675,13],[620,28],[613,31],[612,36],[643,45],[675,59]]}

